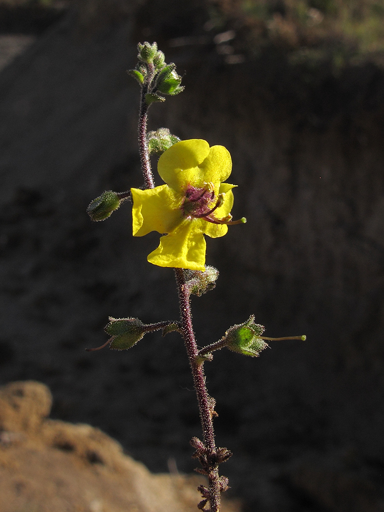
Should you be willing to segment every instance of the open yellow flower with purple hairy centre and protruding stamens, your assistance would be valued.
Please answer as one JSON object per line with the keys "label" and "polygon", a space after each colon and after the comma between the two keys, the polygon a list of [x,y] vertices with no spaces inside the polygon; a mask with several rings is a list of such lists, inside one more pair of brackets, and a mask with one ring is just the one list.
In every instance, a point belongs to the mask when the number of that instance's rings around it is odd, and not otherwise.
{"label": "open yellow flower with purple hairy centre and protruding stamens", "polygon": [[148,261],[160,267],[205,270],[205,239],[223,237],[233,205],[231,189],[222,183],[230,175],[232,161],[223,146],[209,147],[200,139],[182,140],[160,157],[158,172],[166,185],[132,188],[133,235],[151,231],[167,233]]}

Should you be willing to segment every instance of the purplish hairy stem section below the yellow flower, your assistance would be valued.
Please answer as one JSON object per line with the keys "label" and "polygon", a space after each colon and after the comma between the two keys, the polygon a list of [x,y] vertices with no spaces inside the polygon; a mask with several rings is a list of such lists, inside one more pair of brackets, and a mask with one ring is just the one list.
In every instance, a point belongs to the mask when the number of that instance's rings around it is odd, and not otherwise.
{"label": "purplish hairy stem section below the yellow flower", "polygon": [[204,435],[204,444],[206,447],[207,459],[211,459],[207,476],[209,480],[209,503],[210,512],[220,511],[220,482],[218,462],[216,458],[216,443],[214,425],[212,422],[212,412],[209,407],[208,392],[205,387],[205,377],[202,362],[198,362],[199,350],[197,348],[195,334],[192,326],[190,311],[189,291],[185,284],[184,272],[182,268],[175,268],[176,282],[180,301],[180,316],[182,325],[182,336],[184,338],[187,350],[190,368],[194,379],[197,400],[199,403],[200,419]]}

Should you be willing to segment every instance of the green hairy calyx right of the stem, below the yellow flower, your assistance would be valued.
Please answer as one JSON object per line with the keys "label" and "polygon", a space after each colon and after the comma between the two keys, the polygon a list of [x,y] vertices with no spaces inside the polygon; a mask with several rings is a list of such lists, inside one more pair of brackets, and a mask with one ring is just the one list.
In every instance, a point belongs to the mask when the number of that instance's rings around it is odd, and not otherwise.
{"label": "green hairy calyx right of the stem, below the yellow flower", "polygon": [[254,323],[251,315],[244,324],[234,325],[225,333],[226,347],[233,352],[258,357],[260,352],[268,347],[261,336],[264,326]]}

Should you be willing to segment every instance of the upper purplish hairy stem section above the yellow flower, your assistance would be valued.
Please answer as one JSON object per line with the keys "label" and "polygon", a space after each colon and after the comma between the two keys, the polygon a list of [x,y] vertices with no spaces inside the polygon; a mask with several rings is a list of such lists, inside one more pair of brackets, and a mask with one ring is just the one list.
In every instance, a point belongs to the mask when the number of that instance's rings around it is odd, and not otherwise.
{"label": "upper purplish hairy stem section above the yellow flower", "polygon": [[145,188],[154,188],[155,182],[151,169],[150,152],[148,151],[148,142],[146,138],[146,126],[148,119],[148,105],[145,101],[145,95],[148,92],[155,74],[153,64],[147,65],[148,74],[141,87],[140,110],[139,110],[139,152],[141,170],[144,176]]}

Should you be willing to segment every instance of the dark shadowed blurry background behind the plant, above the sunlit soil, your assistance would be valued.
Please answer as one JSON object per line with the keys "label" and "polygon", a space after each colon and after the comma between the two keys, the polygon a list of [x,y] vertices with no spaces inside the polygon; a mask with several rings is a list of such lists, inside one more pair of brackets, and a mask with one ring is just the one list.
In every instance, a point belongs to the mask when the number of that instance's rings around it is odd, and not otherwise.
{"label": "dark shadowed blurry background behind the plant, above the sunlit soil", "polygon": [[[355,3],[371,9],[356,19],[381,20],[376,4]],[[226,146],[233,215],[248,221],[207,241],[220,277],[193,298],[198,343],[252,313],[266,335],[307,335],[205,365],[218,444],[234,453],[228,494],[260,512],[382,510],[380,41],[345,35],[343,3],[301,3],[306,18],[288,2],[244,5],[0,5],[2,34],[33,40],[0,73],[0,380],[47,383],[54,417],[99,426],[151,471],[195,466],[180,337],[84,352],[104,343],[109,315],[178,317],[172,270],[146,261],[158,233],[132,238],[129,203],[102,223],[85,212],[104,190],[142,184],[126,70],[138,41],[157,40],[186,89],[152,106],[150,129]]]}

